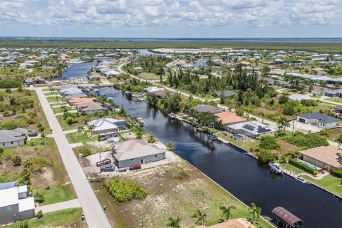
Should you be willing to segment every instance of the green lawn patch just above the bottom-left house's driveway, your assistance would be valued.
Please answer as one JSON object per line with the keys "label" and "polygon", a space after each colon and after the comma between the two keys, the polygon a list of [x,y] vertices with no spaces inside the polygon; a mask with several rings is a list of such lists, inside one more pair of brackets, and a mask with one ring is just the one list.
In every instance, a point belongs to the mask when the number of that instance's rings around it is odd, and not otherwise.
{"label": "green lawn patch just above the bottom-left house's driveway", "polygon": [[41,206],[47,204],[55,204],[56,202],[68,201],[75,199],[76,195],[73,194],[73,185],[53,185],[47,190],[46,188],[36,189],[33,192],[39,192],[44,196],[44,202]]}

